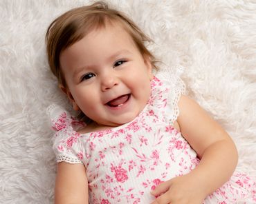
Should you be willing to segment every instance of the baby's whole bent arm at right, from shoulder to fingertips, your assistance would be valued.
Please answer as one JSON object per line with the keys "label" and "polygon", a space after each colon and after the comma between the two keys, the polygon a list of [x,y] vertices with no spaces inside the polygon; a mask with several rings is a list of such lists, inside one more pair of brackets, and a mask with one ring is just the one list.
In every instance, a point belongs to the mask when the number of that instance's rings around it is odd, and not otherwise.
{"label": "baby's whole bent arm at right, from shoulder to fingertips", "polygon": [[237,149],[230,136],[192,99],[181,96],[179,110],[181,134],[201,161],[189,174],[158,185],[152,194],[164,193],[157,203],[202,203],[230,179],[237,165]]}

